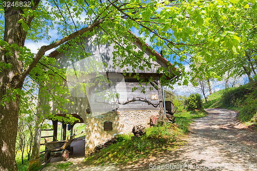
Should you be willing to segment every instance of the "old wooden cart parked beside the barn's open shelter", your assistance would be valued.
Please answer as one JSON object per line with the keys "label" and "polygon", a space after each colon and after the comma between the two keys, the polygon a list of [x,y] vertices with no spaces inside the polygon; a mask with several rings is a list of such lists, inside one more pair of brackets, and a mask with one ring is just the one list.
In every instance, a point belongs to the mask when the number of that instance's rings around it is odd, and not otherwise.
{"label": "old wooden cart parked beside the barn's open shelter", "polygon": [[46,152],[45,152],[45,157],[44,161],[48,161],[51,158],[54,157],[63,157],[63,161],[67,161],[69,159],[69,154],[73,154],[73,147],[70,146],[71,142],[74,139],[70,139],[67,141],[56,141],[56,142],[45,142],[46,146]]}

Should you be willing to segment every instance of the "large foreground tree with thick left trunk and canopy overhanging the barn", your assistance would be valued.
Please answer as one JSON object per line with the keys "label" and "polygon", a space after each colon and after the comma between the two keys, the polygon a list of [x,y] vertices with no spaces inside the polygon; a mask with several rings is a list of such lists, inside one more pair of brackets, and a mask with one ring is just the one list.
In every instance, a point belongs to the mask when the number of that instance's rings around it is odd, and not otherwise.
{"label": "large foreground tree with thick left trunk and canopy overhanging the barn", "polygon": [[[256,4],[254,1],[250,2]],[[132,50],[134,46],[131,41],[135,37],[127,30],[137,29],[144,35],[138,38],[142,43],[148,38],[153,42],[154,48],[164,47],[164,58],[177,56],[178,60],[174,61],[174,65],[181,68],[180,73],[178,69],[170,73],[167,68],[158,68],[158,72],[164,73],[162,84],[169,85],[171,81],[166,80],[167,75],[179,75],[182,79],[187,74],[182,62],[187,60],[187,55],[197,58],[189,54],[196,45],[210,48],[215,44],[222,44],[221,47],[233,52],[239,49],[240,39],[225,22],[233,21],[234,14],[241,17],[238,13],[242,8],[247,11],[248,3],[249,1],[244,0],[2,0],[0,12],[4,18],[0,22],[0,169],[17,170],[15,138],[22,87],[25,78],[32,71],[45,71],[34,68],[41,65],[40,62],[48,60],[44,57],[46,51],[69,41],[69,44],[62,46],[65,49],[65,46],[73,44],[75,37],[94,34],[99,30],[102,35],[98,43],[116,44],[114,59],[121,56],[121,60],[116,61],[117,65],[149,68],[150,61],[156,58],[151,56],[149,61],[144,59],[146,45],[140,51]],[[57,30],[59,38],[39,48],[37,53],[32,54],[24,46],[26,40],[50,40],[51,29]],[[127,55],[128,52],[131,55]],[[185,78],[183,84],[188,83],[189,78]]]}

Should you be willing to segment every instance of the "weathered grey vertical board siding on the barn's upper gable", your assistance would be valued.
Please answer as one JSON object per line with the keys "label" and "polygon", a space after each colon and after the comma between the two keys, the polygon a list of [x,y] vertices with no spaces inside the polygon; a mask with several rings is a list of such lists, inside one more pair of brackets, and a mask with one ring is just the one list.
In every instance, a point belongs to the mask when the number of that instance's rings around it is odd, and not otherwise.
{"label": "weathered grey vertical board siding on the barn's upper gable", "polygon": [[[92,42],[96,39],[95,36],[93,37],[85,37],[85,52],[90,53],[92,56],[94,56],[94,59],[96,59],[98,62],[103,62],[107,65],[106,68],[103,68],[102,72],[119,72],[122,73],[123,70],[128,69],[127,72],[133,72],[133,69],[131,66],[120,68],[116,67],[114,68],[114,62],[113,62],[113,52],[115,51],[114,44],[105,44],[105,45],[98,45],[95,46],[92,44]],[[141,50],[141,45],[139,42],[134,43],[137,48],[136,51]],[[149,56],[156,55],[153,52],[151,52],[150,49],[146,48],[144,51],[144,58],[149,59]],[[57,62],[60,64],[61,68],[68,68],[68,66],[76,65],[78,66],[80,63],[79,56],[77,56],[76,52],[69,52],[68,54],[64,53],[57,53],[54,55],[54,58],[57,59]],[[77,58],[77,59],[76,59]],[[81,59],[81,58],[80,58]],[[120,60],[118,57],[117,60]],[[90,59],[84,60],[84,62],[90,62]],[[152,63],[152,67],[150,69],[146,69],[144,67],[143,70],[140,70],[139,68],[135,69],[135,73],[156,73],[156,69],[158,66],[167,67],[167,62],[163,59],[157,57],[156,61],[149,60],[149,62]],[[99,70],[100,71],[100,70]]]}

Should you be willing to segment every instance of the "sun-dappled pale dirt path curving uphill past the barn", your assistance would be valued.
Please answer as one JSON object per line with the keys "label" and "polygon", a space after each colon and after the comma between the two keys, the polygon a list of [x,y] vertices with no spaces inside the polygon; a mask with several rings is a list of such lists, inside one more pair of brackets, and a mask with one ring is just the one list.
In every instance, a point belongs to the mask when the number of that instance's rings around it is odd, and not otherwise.
{"label": "sun-dappled pale dirt path curving uphill past the barn", "polygon": [[257,170],[257,132],[245,129],[236,112],[206,109],[208,116],[190,126],[188,143],[174,151],[126,166],[72,170]]}

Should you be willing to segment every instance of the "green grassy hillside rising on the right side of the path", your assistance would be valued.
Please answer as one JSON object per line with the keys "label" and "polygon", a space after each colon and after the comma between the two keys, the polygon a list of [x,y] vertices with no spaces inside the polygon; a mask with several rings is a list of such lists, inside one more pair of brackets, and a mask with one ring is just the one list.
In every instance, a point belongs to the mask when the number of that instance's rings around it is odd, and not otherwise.
{"label": "green grassy hillside rising on the right side of the path", "polygon": [[256,83],[227,88],[212,93],[204,108],[226,108],[238,111],[238,120],[257,128]]}

